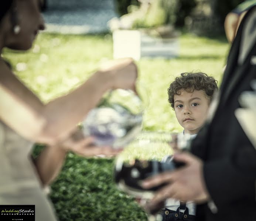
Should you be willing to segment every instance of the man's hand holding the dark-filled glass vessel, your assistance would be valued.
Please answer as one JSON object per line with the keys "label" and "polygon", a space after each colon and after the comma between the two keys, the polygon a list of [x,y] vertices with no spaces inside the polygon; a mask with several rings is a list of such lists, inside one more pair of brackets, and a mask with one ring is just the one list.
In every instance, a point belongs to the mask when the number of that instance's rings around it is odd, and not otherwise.
{"label": "man's hand holding the dark-filled glass vessel", "polygon": [[150,204],[157,204],[167,198],[192,200],[196,203],[208,201],[210,197],[204,183],[201,159],[189,153],[177,153],[174,155],[174,160],[184,162],[186,165],[172,172],[161,173],[142,183],[144,188],[167,184],[156,192]]}

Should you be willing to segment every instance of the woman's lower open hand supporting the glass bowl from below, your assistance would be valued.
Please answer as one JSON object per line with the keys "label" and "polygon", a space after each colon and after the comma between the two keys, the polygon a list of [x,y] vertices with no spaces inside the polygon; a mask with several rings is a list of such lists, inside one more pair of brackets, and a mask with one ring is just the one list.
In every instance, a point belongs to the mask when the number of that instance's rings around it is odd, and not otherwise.
{"label": "woman's lower open hand supporting the glass bowl from below", "polygon": [[109,146],[96,146],[93,137],[84,137],[80,130],[76,130],[71,136],[66,138],[60,144],[66,151],[73,151],[83,157],[105,156],[112,157],[122,150],[115,150]]}

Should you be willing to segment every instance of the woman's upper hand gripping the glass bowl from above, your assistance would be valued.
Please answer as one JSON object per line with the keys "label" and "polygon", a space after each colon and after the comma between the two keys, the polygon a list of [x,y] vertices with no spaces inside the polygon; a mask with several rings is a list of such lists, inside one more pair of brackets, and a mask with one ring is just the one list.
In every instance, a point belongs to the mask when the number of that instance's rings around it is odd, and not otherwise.
{"label": "woman's upper hand gripping the glass bowl from above", "polygon": [[135,81],[137,67],[133,59],[117,59],[103,64],[99,71],[108,72],[112,76],[112,89],[132,89],[136,92]]}

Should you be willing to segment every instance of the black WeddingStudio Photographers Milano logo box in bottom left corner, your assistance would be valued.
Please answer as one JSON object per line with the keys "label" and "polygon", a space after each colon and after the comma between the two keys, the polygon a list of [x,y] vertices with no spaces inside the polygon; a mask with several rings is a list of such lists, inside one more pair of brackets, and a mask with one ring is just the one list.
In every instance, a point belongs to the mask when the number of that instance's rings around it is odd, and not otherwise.
{"label": "black WeddingStudio Photographers Milano logo box in bottom left corner", "polygon": [[35,205],[0,205],[1,221],[35,221]]}

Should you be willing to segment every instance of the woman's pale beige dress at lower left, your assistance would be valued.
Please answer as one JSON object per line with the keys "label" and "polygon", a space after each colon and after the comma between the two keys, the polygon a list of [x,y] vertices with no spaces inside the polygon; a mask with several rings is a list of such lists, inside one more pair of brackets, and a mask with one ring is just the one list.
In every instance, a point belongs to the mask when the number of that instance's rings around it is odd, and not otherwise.
{"label": "woman's pale beige dress at lower left", "polygon": [[31,161],[32,146],[0,121],[0,205],[35,205],[36,221],[56,221]]}

